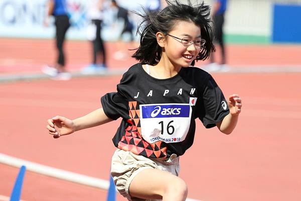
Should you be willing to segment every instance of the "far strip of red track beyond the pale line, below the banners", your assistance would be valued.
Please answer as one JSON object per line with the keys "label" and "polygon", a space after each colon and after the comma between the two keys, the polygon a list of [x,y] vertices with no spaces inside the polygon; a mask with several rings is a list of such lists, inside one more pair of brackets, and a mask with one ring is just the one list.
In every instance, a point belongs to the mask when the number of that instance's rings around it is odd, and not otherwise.
{"label": "far strip of red track beyond the pale line, below the banners", "polygon": [[[53,64],[56,54],[52,40],[0,38],[0,73],[41,71],[45,64]],[[66,41],[66,63],[69,70],[78,70],[91,61],[91,44],[87,41]],[[136,63],[113,59],[114,43],[105,44],[109,68],[125,68]],[[134,46],[127,47],[129,49]],[[301,46],[298,45],[228,45],[227,63],[231,67],[244,65],[300,65]],[[132,51],[133,52],[133,51]],[[131,52],[130,52],[131,53]],[[217,59],[218,59],[217,54]],[[297,55],[297,56],[296,56]],[[204,62],[198,62],[202,65]]]}

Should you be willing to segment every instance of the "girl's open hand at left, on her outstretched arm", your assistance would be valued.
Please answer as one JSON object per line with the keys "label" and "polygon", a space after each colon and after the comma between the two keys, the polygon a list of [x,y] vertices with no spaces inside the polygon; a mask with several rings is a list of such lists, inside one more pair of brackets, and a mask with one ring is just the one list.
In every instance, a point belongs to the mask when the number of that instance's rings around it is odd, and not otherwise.
{"label": "girl's open hand at left, on her outstretched arm", "polygon": [[47,130],[50,135],[53,135],[54,138],[59,138],[63,135],[69,135],[74,133],[74,123],[72,120],[65,117],[56,116],[47,121]]}

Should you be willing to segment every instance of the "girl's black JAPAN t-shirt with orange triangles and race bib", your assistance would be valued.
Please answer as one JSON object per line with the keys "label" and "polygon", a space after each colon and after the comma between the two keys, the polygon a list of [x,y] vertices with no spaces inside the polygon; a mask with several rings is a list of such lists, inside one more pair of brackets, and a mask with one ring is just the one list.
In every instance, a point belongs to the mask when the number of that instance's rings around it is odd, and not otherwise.
{"label": "girl's black JAPAN t-shirt with orange triangles and race bib", "polygon": [[182,67],[168,79],[148,75],[137,63],[125,72],[117,92],[101,97],[107,117],[121,124],[114,145],[148,158],[181,156],[192,146],[195,119],[206,128],[229,114],[227,101],[206,71]]}

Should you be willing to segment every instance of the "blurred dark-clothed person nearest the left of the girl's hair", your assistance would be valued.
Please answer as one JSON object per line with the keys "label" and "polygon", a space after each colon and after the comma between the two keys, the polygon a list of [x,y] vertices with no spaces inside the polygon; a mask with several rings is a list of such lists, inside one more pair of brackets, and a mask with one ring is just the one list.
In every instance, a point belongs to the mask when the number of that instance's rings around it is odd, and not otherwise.
{"label": "blurred dark-clothed person nearest the left of the girl's hair", "polygon": [[[122,24],[122,31],[117,41],[117,51],[115,52],[114,59],[125,60],[130,55],[126,52],[127,49],[131,49],[134,41],[133,36],[133,23],[130,21],[128,11],[125,8],[120,7],[115,0],[112,0],[112,9],[117,9],[117,15],[115,17],[115,25]],[[119,21],[119,22],[118,22]],[[126,43],[129,43],[130,47],[126,47]]]}

